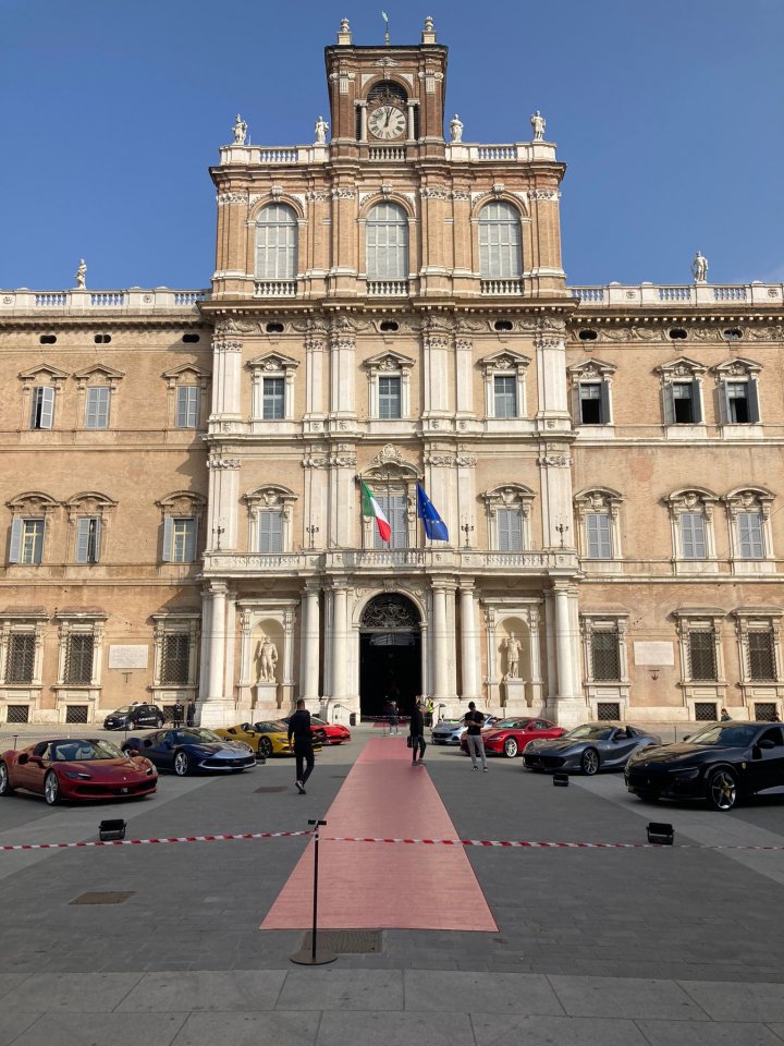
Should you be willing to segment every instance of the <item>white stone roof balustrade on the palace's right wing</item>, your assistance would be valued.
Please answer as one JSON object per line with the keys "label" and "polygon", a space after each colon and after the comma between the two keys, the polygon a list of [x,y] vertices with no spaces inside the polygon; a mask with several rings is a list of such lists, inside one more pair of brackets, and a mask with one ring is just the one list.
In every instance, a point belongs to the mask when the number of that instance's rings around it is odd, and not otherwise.
{"label": "white stone roof balustrade on the palace's right wing", "polygon": [[571,287],[573,297],[584,308],[686,308],[697,306],[734,307],[743,305],[777,307],[784,304],[784,283],[639,283],[607,287]]}

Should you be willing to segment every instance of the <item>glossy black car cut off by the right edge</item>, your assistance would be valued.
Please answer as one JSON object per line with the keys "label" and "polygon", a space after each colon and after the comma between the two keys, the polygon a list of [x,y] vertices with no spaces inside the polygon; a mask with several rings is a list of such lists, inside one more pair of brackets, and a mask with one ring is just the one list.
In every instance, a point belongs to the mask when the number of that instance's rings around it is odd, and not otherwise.
{"label": "glossy black car cut off by the right edge", "polygon": [[625,778],[640,799],[706,799],[713,810],[732,810],[743,796],[784,795],[784,732],[771,722],[712,722],[634,755]]}

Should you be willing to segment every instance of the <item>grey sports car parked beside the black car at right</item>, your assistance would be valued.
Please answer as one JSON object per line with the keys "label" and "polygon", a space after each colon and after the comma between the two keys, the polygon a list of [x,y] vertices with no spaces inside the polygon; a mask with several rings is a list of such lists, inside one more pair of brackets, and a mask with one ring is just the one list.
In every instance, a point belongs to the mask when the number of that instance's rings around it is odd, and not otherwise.
{"label": "grey sports car parked beside the black car at right", "polygon": [[590,776],[601,769],[622,769],[633,752],[652,744],[661,744],[661,738],[638,727],[584,722],[562,738],[530,741],[523,762],[529,770],[567,770]]}

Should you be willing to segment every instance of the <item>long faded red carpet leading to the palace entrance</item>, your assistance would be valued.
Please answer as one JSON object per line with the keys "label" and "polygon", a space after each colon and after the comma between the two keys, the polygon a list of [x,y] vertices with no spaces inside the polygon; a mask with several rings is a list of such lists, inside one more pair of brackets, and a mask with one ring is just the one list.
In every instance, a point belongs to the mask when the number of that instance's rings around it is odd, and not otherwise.
{"label": "long faded red carpet leading to the palace entrance", "polygon": [[[314,777],[314,789],[317,780]],[[457,838],[427,767],[412,767],[404,737],[368,741],[324,819],[319,843],[320,927],[498,929],[462,848],[323,838]],[[313,842],[260,928],[306,929],[311,919]]]}

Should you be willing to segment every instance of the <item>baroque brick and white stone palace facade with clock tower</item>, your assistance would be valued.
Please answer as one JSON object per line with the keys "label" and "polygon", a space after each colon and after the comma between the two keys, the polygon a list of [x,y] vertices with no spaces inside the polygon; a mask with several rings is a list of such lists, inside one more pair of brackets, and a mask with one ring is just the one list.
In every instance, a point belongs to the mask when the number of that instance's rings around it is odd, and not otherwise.
{"label": "baroque brick and white stone palace facade with clock tower", "polygon": [[326,65],[210,291],[0,292],[0,721],[784,713],[782,285],[569,288],[538,113],[445,141],[431,20]]}

